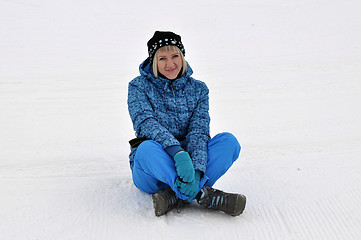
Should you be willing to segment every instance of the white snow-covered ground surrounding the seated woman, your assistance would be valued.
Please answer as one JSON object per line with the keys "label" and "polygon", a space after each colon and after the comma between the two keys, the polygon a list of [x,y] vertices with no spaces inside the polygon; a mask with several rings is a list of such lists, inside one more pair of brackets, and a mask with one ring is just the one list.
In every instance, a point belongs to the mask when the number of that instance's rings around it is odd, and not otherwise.
{"label": "white snow-covered ground surrounding the seated woman", "polygon": [[[128,82],[155,30],[210,88],[239,217],[155,217]],[[360,239],[360,0],[0,0],[0,239]]]}

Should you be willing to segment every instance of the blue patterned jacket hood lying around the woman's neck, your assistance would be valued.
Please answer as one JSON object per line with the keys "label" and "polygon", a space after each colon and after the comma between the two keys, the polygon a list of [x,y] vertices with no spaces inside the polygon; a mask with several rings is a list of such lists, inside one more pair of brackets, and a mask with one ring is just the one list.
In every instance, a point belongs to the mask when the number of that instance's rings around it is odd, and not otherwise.
{"label": "blue patterned jacket hood lying around the woman's neck", "polygon": [[184,87],[188,78],[193,74],[193,70],[187,62],[187,72],[183,76],[175,80],[169,80],[167,78],[158,77],[155,78],[153,74],[152,65],[150,59],[147,58],[139,66],[140,75],[153,82],[156,86],[163,88],[165,91],[171,91],[170,86],[172,85],[174,90],[180,90]]}

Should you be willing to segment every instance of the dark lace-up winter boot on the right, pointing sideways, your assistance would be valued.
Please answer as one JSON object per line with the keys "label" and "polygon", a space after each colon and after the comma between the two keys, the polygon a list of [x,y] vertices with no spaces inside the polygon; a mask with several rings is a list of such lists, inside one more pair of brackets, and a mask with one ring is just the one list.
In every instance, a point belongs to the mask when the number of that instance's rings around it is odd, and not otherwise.
{"label": "dark lace-up winter boot on the right, pointing sideways", "polygon": [[204,186],[200,191],[198,203],[206,208],[223,211],[238,216],[246,207],[246,197],[241,194],[226,193]]}

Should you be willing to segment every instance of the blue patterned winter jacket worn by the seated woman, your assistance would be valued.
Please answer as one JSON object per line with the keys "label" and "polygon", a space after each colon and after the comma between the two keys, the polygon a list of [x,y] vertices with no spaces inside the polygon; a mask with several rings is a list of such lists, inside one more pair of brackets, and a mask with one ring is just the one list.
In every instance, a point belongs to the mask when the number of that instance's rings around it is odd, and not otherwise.
{"label": "blue patterned winter jacket worn by the seated woman", "polygon": [[[191,77],[155,78],[149,59],[140,66],[140,76],[128,86],[128,110],[137,137],[160,143],[165,150],[184,149],[195,170],[206,171],[209,134],[209,100],[205,83]],[[131,148],[133,169],[136,148]],[[175,153],[170,153],[171,156]]]}

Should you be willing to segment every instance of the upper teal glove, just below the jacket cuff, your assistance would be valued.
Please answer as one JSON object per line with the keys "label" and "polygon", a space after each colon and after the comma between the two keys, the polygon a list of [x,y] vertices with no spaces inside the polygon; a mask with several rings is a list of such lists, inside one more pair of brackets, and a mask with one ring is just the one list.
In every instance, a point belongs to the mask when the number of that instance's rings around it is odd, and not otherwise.
{"label": "upper teal glove, just below the jacket cuff", "polygon": [[194,167],[192,159],[187,152],[179,152],[174,156],[175,167],[178,176],[183,182],[194,180]]}

